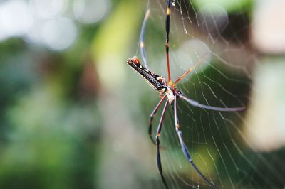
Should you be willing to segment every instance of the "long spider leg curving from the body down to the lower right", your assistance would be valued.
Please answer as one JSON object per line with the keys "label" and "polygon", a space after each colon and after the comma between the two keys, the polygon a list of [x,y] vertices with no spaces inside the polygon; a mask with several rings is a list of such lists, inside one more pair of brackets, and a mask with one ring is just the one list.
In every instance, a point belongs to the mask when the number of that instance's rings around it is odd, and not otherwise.
{"label": "long spider leg curving from the body down to the lower right", "polygon": [[176,132],[178,134],[178,138],[180,141],[180,146],[182,148],[182,151],[184,153],[184,156],[187,158],[187,160],[189,161],[189,163],[191,163],[192,167],[195,169],[195,171],[199,174],[200,177],[202,177],[207,183],[209,183],[209,185],[212,186],[212,188],[217,188],[216,185],[214,185],[213,182],[209,181],[206,176],[203,175],[203,173],[201,171],[199,171],[199,168],[197,168],[196,164],[194,163],[194,161],[192,160],[189,151],[187,150],[187,147],[182,139],[182,131],[180,131],[180,125],[178,123],[178,117],[177,117],[177,95],[175,95],[175,99],[174,99],[174,120],[175,120],[175,129]]}

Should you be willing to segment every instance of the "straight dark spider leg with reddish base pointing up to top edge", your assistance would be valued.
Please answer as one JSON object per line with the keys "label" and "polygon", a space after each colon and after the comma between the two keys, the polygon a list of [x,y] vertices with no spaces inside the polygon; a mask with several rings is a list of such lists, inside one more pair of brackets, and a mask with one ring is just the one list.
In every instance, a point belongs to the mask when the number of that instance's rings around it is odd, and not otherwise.
{"label": "straight dark spider leg with reddish base pointing up to top edge", "polygon": [[165,16],[165,31],[166,31],[165,50],[166,50],[168,81],[171,81],[170,62],[169,62],[170,0],[167,0],[167,9],[166,9],[166,16]]}

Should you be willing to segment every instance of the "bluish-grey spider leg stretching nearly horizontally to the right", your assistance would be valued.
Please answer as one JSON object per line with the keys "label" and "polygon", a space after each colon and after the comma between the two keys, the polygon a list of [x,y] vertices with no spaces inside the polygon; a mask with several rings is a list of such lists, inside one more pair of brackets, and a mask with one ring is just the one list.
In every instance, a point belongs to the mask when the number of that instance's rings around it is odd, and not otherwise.
{"label": "bluish-grey spider leg stretching nearly horizontally to the right", "polygon": [[184,95],[178,95],[178,96],[184,99],[189,104],[191,104],[193,107],[201,107],[204,109],[211,109],[211,110],[220,111],[220,112],[236,112],[236,111],[242,111],[245,109],[245,107],[211,107],[211,106],[207,106],[204,104],[199,104],[199,102],[196,102],[193,99],[189,99],[185,97]]}

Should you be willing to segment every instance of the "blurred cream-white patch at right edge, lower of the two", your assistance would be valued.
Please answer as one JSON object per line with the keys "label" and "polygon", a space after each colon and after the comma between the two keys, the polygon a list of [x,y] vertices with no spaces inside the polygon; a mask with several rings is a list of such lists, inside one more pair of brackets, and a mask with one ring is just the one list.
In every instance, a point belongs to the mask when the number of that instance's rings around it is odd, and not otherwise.
{"label": "blurred cream-white patch at right edge, lower of the two", "polygon": [[244,133],[259,151],[285,146],[284,59],[259,64]]}

